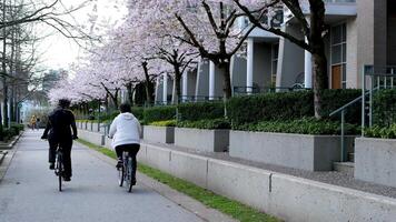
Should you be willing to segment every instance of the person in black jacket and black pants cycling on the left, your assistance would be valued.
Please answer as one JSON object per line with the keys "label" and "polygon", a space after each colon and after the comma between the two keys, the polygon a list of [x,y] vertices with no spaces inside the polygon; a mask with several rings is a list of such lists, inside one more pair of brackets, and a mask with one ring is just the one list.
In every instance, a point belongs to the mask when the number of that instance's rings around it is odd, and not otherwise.
{"label": "person in black jacket and black pants cycling on the left", "polygon": [[48,117],[49,121],[41,137],[41,139],[48,139],[49,142],[49,163],[51,170],[55,169],[57,148],[58,145],[62,148],[65,181],[70,181],[71,178],[70,152],[72,147],[72,140],[78,139],[75,114],[68,109],[69,107],[69,100],[59,100],[58,107]]}

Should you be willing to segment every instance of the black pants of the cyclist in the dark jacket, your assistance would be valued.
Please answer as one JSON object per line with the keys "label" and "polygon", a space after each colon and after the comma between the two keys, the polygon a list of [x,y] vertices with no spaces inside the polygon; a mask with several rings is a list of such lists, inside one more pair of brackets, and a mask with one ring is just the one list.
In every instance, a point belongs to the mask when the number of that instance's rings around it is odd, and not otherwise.
{"label": "black pants of the cyclist in the dark jacket", "polygon": [[56,139],[48,139],[50,149],[49,149],[49,157],[48,161],[50,163],[55,163],[56,153],[58,145],[62,148],[63,153],[63,167],[65,167],[65,176],[71,176],[71,147],[72,140],[65,140],[65,141],[57,141]]}

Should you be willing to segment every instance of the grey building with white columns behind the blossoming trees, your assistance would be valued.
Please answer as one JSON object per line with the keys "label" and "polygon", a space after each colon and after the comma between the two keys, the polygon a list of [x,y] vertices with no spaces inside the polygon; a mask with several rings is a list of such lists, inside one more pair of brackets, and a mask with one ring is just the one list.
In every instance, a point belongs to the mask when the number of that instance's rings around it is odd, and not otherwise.
{"label": "grey building with white columns behind the blossoming trees", "polygon": [[[329,26],[324,34],[330,89],[362,88],[364,64],[396,65],[395,0],[325,0]],[[309,16],[308,3],[303,4]],[[283,11],[281,29],[304,39],[296,20]],[[241,19],[238,26],[246,26]],[[255,29],[246,41],[246,56],[231,61],[234,93],[278,91],[293,87],[313,87],[311,56],[290,41]],[[182,99],[217,99],[222,95],[222,75],[206,60],[197,71],[182,77]],[[162,75],[157,80],[156,101],[169,102],[174,81]],[[164,97],[166,95],[166,97]]]}

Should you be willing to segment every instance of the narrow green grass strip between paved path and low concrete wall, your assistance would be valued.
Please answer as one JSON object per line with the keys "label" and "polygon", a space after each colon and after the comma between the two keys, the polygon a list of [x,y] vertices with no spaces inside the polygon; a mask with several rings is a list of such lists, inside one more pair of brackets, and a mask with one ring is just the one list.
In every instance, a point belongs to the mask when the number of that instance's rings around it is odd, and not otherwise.
{"label": "narrow green grass strip between paved path and low concrete wall", "polygon": [[[79,139],[80,143],[91,148],[105,155],[116,159],[116,153],[107,148],[92,144],[85,140]],[[168,173],[161,172],[157,169],[139,163],[138,171],[164,183],[170,188],[185,193],[202,204],[216,209],[225,214],[232,216],[241,222],[277,222],[280,221],[274,216],[265,214],[256,209],[253,209],[238,201],[230,200],[228,198],[218,195],[211,191],[202,189],[185,180],[175,178]]]}

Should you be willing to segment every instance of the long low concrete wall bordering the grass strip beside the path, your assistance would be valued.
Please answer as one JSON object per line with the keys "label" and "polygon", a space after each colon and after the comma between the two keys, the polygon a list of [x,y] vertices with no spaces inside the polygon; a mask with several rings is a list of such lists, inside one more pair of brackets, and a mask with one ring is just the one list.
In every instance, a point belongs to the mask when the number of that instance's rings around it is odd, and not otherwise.
{"label": "long low concrete wall bordering the grass strip beside the path", "polygon": [[138,160],[290,222],[394,221],[396,199],[141,144]]}

